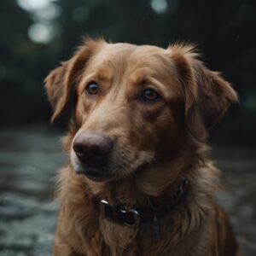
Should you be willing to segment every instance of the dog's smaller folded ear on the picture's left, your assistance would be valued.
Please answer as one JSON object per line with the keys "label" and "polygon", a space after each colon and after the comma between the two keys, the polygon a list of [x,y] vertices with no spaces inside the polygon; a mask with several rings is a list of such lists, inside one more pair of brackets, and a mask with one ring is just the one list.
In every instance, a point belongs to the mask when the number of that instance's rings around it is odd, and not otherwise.
{"label": "dog's smaller folded ear on the picture's left", "polygon": [[84,46],[73,55],[73,58],[62,62],[61,66],[55,68],[44,80],[49,102],[54,109],[51,122],[64,112],[87,61],[102,42],[86,39]]}

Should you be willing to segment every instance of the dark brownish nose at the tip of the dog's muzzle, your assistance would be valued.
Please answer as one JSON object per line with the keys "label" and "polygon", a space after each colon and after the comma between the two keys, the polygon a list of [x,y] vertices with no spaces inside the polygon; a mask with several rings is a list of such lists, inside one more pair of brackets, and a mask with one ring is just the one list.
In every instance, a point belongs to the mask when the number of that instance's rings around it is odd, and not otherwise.
{"label": "dark brownish nose at the tip of the dog's muzzle", "polygon": [[82,132],[73,142],[79,160],[90,166],[105,164],[112,148],[113,139],[101,133]]}

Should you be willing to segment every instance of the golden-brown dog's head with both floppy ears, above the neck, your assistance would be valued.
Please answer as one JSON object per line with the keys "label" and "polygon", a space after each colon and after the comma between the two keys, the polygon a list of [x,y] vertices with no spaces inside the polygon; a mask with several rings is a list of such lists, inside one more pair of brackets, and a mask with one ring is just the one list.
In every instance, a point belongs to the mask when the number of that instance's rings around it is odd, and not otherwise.
{"label": "golden-brown dog's head with both floppy ears, above the neck", "polygon": [[45,81],[52,120],[75,99],[71,162],[94,181],[131,176],[195,150],[237,101],[230,84],[183,45],[87,40]]}

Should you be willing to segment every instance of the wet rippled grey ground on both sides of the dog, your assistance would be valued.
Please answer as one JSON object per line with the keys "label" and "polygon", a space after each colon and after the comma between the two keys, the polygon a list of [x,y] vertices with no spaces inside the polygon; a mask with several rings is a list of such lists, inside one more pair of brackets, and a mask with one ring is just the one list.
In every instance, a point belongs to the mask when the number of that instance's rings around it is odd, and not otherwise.
{"label": "wet rippled grey ground on both sides of the dog", "polygon": [[[55,171],[65,161],[60,133],[0,131],[0,256],[50,255],[57,206]],[[224,173],[219,200],[247,256],[256,255],[256,148],[215,148]]]}

